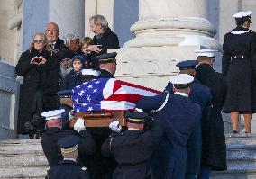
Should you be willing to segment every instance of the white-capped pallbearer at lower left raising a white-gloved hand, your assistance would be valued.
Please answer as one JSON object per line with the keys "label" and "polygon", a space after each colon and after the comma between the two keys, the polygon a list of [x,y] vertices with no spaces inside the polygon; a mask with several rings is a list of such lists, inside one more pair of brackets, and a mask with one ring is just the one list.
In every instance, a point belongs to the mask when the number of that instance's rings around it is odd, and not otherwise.
{"label": "white-capped pallbearer at lower left raising a white-gloved hand", "polygon": [[81,125],[80,121],[76,121],[75,130],[62,130],[61,114],[64,110],[55,110],[42,112],[42,116],[46,118],[46,130],[41,135],[41,146],[49,166],[56,166],[61,161],[62,155],[57,141],[69,135],[77,135],[79,140],[79,163],[86,165],[87,155],[91,155],[96,150],[94,139],[90,132]]}

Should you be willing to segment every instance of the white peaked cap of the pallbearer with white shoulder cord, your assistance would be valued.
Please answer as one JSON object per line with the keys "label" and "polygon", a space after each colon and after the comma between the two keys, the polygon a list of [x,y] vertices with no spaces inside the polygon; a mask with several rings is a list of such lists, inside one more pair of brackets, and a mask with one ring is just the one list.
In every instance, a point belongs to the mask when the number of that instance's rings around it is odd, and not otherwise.
{"label": "white peaked cap of the pallbearer with white shoulder cord", "polygon": [[169,82],[179,89],[187,88],[193,81],[194,77],[187,74],[179,74],[169,79]]}

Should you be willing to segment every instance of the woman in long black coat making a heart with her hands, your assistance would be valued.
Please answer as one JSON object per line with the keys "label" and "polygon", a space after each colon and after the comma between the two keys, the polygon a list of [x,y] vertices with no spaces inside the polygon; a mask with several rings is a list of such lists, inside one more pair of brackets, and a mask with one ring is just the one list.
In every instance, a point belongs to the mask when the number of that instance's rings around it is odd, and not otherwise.
{"label": "woman in long black coat making a heart with her hands", "polygon": [[41,112],[59,108],[59,60],[50,51],[43,33],[36,33],[31,47],[23,52],[15,71],[23,76],[20,90],[18,133],[30,134],[43,128]]}

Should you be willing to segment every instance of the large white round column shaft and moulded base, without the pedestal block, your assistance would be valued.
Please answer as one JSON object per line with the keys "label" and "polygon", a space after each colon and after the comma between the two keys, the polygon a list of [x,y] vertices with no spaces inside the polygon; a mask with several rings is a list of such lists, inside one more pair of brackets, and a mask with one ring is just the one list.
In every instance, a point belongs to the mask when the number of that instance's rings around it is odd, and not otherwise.
{"label": "large white round column shaft and moulded base, without the pedestal block", "polygon": [[220,49],[214,26],[206,20],[207,0],[140,0],[139,21],[131,31],[136,38],[125,47],[201,45]]}

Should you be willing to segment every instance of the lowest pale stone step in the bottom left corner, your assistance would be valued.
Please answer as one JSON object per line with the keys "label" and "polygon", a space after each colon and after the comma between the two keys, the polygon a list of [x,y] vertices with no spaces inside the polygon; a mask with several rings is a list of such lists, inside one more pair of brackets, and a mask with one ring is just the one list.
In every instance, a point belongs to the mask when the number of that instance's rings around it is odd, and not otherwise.
{"label": "lowest pale stone step in the bottom left corner", "polygon": [[0,166],[0,178],[44,178],[49,166]]}

